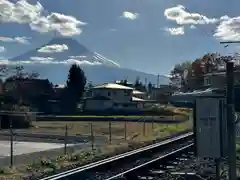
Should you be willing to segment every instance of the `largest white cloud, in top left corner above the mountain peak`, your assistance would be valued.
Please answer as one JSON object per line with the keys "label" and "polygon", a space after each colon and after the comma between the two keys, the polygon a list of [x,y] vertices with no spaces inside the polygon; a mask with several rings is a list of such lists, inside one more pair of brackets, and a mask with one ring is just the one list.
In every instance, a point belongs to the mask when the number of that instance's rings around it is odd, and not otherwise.
{"label": "largest white cloud, in top left corner above the mountain peak", "polygon": [[86,25],[73,16],[55,12],[44,16],[43,11],[44,8],[39,2],[33,5],[26,0],[19,0],[16,3],[1,0],[0,22],[29,24],[32,30],[41,33],[55,31],[63,36],[80,34],[82,32],[80,26]]}

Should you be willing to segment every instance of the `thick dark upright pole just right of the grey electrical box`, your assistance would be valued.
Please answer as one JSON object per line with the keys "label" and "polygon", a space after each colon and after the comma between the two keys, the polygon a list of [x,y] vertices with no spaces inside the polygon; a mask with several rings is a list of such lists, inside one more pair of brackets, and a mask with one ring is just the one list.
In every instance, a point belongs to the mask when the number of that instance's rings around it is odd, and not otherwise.
{"label": "thick dark upright pole just right of the grey electrical box", "polygon": [[227,129],[228,129],[228,175],[236,180],[236,132],[234,121],[234,63],[227,62]]}

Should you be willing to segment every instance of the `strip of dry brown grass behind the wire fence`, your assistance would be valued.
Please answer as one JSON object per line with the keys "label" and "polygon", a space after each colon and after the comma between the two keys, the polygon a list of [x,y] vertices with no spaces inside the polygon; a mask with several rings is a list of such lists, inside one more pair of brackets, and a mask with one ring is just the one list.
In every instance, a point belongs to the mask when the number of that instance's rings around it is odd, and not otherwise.
{"label": "strip of dry brown grass behind the wire fence", "polygon": [[[103,136],[109,137],[109,134],[112,135],[112,140],[114,139],[124,139],[125,131],[127,138],[136,139],[138,137],[147,137],[147,136],[161,136],[162,132],[166,133],[167,131],[171,134],[176,131],[181,131],[184,129],[191,128],[191,122],[186,121],[179,123],[177,125],[173,124],[163,124],[163,123],[143,123],[143,122],[33,122],[33,127],[27,131],[29,132],[41,132],[41,133],[51,133],[51,134],[65,134],[65,127],[68,126],[69,135],[91,135],[90,124],[92,124],[92,130],[94,136]],[[126,129],[125,129],[126,127]],[[176,128],[177,129],[176,129]],[[174,129],[175,128],[175,129]],[[179,129],[180,128],[180,129]],[[145,138],[144,138],[145,139]]]}

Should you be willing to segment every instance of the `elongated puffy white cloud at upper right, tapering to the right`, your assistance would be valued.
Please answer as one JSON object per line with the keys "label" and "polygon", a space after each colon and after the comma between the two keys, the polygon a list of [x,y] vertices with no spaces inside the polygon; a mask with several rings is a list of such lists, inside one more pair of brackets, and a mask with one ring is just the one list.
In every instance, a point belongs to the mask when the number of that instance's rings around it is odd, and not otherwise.
{"label": "elongated puffy white cloud at upper right, tapering to the right", "polygon": [[179,25],[214,24],[219,21],[218,19],[208,18],[207,16],[199,13],[189,13],[182,5],[166,9],[164,15],[168,20],[175,21]]}

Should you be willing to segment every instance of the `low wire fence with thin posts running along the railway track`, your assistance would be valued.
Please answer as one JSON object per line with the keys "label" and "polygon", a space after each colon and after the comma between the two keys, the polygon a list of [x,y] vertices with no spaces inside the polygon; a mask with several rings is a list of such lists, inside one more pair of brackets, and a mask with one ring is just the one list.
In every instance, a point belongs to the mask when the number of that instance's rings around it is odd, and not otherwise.
{"label": "low wire fence with thin posts running along the railway track", "polygon": [[189,121],[169,124],[144,120],[144,117],[134,122],[32,121],[30,127],[20,129],[13,128],[13,121],[9,123],[9,127],[0,131],[3,147],[0,166],[30,164],[36,159],[152,141],[191,128]]}

